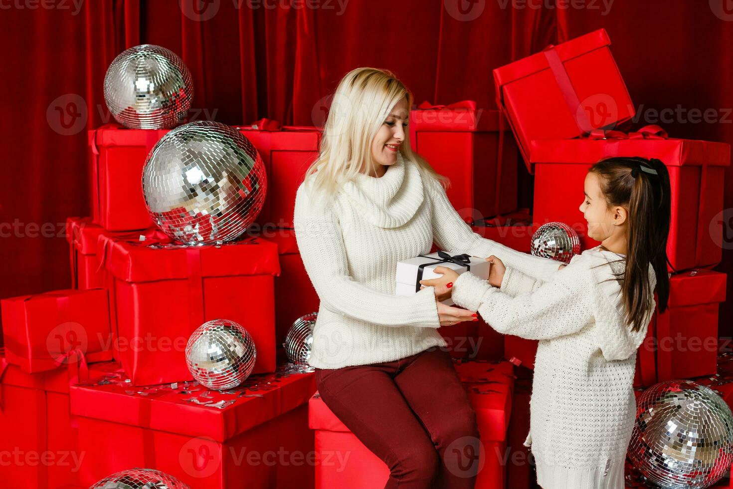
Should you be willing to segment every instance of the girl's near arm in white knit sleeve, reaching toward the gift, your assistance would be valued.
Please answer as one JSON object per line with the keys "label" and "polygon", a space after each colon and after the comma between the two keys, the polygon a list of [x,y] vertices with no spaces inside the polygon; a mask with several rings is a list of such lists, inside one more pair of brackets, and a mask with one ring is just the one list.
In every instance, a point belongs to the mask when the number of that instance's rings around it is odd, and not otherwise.
{"label": "girl's near arm in white knit sleeve, reaching toward the gift", "polygon": [[[589,273],[582,265],[569,265],[555,273],[550,282],[535,282],[531,291],[512,297],[473,273],[464,272],[453,282],[452,299],[465,309],[478,311],[500,333],[527,339],[556,338],[581,331],[592,319]],[[511,276],[509,285],[511,290]]]}

